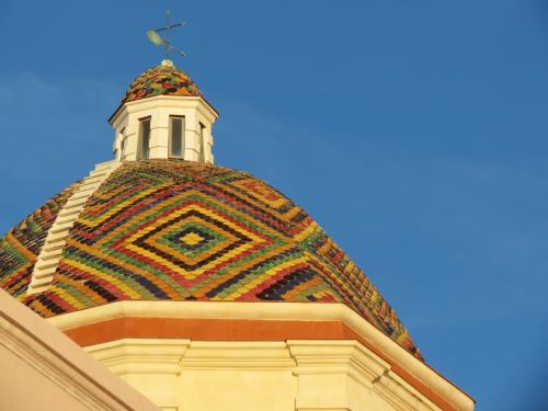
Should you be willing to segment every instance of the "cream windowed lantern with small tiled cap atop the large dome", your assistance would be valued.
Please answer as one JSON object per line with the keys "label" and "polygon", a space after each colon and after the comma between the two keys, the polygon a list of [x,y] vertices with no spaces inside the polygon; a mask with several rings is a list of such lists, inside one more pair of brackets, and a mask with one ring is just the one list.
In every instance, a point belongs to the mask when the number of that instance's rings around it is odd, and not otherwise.
{"label": "cream windowed lantern with small tiled cap atop the large dome", "polygon": [[213,163],[217,111],[171,60],[137,77],[110,118],[118,161],[183,159]]}

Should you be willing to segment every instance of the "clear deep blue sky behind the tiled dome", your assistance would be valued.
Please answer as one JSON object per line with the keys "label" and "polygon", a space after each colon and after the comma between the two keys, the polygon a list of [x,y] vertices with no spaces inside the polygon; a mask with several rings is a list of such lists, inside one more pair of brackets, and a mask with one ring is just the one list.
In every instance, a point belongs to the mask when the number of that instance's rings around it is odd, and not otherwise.
{"label": "clear deep blue sky behind the tiled dome", "polygon": [[[478,410],[548,407],[548,1],[172,1],[217,163],[364,269]],[[109,160],[162,1],[0,0],[0,232]]]}

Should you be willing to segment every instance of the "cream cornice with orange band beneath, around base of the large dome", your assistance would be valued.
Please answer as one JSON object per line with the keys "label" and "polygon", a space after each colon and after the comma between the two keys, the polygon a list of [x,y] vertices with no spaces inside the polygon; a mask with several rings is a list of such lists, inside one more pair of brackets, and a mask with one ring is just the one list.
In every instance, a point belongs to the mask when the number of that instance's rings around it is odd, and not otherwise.
{"label": "cream cornice with orange band beneath, around base of the large dome", "polygon": [[342,304],[117,301],[48,321],[83,346],[124,338],[356,340],[443,410],[473,410],[473,399]]}

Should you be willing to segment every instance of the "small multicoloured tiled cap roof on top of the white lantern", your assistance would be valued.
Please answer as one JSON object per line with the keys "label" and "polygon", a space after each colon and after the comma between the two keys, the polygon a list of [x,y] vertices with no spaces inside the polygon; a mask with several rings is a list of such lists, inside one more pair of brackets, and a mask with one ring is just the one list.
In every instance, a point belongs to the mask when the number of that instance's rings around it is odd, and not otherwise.
{"label": "small multicoloured tiled cap roof on top of the white lantern", "polygon": [[183,71],[175,67],[157,66],[134,80],[121,104],[156,95],[202,96],[202,92]]}

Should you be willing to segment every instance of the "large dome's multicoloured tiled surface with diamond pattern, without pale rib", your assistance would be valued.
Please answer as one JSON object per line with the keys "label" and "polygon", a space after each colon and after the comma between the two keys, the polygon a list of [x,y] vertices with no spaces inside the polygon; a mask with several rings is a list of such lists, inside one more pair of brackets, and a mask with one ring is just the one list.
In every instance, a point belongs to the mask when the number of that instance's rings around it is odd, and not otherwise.
{"label": "large dome's multicoloured tiled surface with diamond pattern, without pale rib", "polygon": [[122,163],[89,197],[47,289],[34,263],[70,186],[0,240],[0,287],[43,317],[117,300],[343,302],[420,357],[367,276],[300,207],[246,172]]}

